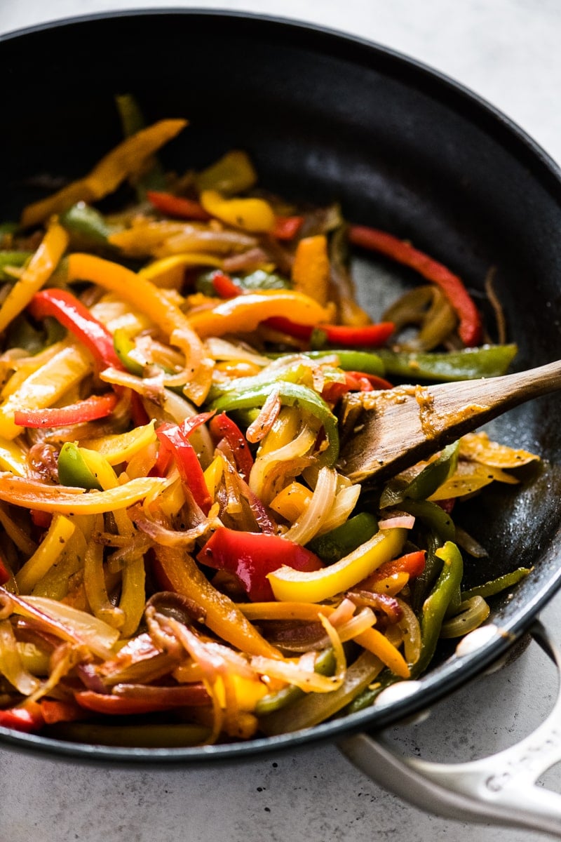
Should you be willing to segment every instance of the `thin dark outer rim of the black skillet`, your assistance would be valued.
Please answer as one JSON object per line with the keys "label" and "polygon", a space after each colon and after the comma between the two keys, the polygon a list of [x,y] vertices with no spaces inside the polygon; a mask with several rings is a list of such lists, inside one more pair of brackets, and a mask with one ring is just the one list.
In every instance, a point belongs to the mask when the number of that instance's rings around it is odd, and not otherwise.
{"label": "thin dark outer rim of the black skillet", "polygon": [[[447,109],[460,113],[463,118],[490,136],[505,152],[524,165],[533,179],[552,195],[561,211],[561,168],[548,152],[533,140],[500,109],[490,104],[479,94],[463,84],[454,81],[445,73],[432,69],[422,61],[406,56],[400,51],[378,44],[360,36],[337,31],[309,22],[285,19],[273,15],[246,13],[226,9],[204,8],[141,8],[112,12],[77,15],[34,24],[0,35],[2,44],[42,34],[53,29],[87,26],[122,18],[158,19],[173,16],[191,19],[229,19],[240,27],[259,29],[283,36],[283,44],[306,49],[310,53],[335,56],[349,61],[355,67],[374,67],[408,88],[436,99]],[[561,532],[561,527],[558,529]],[[553,543],[553,540],[552,540]],[[500,634],[479,647],[477,651],[463,658],[448,658],[437,670],[419,679],[419,691],[400,701],[385,706],[373,706],[347,717],[325,722],[304,731],[281,734],[275,737],[258,738],[243,743],[220,743],[212,746],[177,749],[147,749],[100,746],[87,743],[67,743],[62,740],[35,734],[14,732],[0,727],[0,747],[13,750],[23,749],[39,756],[54,755],[58,759],[79,760],[93,765],[206,765],[253,759],[256,755],[274,754],[325,740],[333,740],[349,733],[363,730],[381,730],[397,724],[400,720],[415,715],[441,700],[445,695],[458,690],[498,658],[505,655],[513,642],[528,631],[539,611],[561,588],[561,556],[557,567],[544,577],[541,586],[530,594],[530,598],[500,626]]]}

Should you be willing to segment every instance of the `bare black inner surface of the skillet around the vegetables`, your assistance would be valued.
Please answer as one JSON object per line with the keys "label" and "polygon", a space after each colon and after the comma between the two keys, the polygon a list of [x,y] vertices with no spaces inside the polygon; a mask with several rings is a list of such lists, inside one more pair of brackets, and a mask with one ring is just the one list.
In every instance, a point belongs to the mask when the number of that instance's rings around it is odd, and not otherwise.
{"label": "bare black inner surface of the skillet around the vegetables", "polygon": [[[503,116],[415,62],[297,24],[186,10],[94,17],[6,37],[0,75],[4,113],[13,115],[3,131],[0,218],[17,217],[35,198],[29,176],[77,177],[113,146],[120,137],[114,93],[130,91],[147,120],[191,121],[167,148],[172,168],[245,148],[263,185],[294,198],[341,200],[347,218],[411,237],[474,290],[495,265],[519,344],[516,367],[558,356],[558,170]],[[384,269],[371,264],[361,288],[374,316]],[[468,504],[463,520],[490,548],[484,573],[468,571],[474,581],[535,566],[512,597],[494,605],[495,622],[515,636],[561,580],[554,401],[543,398],[495,422],[500,440],[537,450],[544,463],[522,488]],[[77,746],[8,732],[2,739],[98,762],[241,758],[385,727],[467,680],[508,644],[499,637],[461,661],[444,659],[423,679],[422,694],[408,700],[273,740],[170,750]]]}

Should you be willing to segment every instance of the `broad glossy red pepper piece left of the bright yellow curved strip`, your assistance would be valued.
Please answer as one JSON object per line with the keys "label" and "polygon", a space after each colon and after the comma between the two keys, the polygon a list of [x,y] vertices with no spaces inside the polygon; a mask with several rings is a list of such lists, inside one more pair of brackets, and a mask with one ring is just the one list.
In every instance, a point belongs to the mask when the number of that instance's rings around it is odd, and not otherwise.
{"label": "broad glossy red pepper piece left of the bright yellow curved strip", "polygon": [[273,573],[283,564],[306,572],[324,566],[315,553],[281,536],[238,532],[225,526],[220,526],[209,538],[197,560],[209,568],[236,573],[253,602],[274,600],[267,573]]}

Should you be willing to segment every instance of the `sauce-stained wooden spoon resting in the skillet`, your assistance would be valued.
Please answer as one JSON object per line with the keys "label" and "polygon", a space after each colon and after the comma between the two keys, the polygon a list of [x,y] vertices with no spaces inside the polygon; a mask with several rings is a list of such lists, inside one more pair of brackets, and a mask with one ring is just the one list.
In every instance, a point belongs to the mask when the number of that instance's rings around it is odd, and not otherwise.
{"label": "sauce-stained wooden spoon resting in the skillet", "polygon": [[561,389],[561,360],[528,371],[438,386],[348,395],[339,468],[353,482],[394,476],[533,397]]}

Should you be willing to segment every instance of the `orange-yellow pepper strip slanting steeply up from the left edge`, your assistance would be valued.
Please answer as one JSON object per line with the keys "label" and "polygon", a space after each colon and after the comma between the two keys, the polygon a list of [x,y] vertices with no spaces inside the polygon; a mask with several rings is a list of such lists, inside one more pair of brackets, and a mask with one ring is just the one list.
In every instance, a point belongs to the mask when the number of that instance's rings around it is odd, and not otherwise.
{"label": "orange-yellow pepper strip slanting steeply up from the left edge", "polygon": [[45,285],[68,246],[68,234],[58,223],[50,225],[39,248],[0,306],[0,331],[23,312],[35,292]]}

